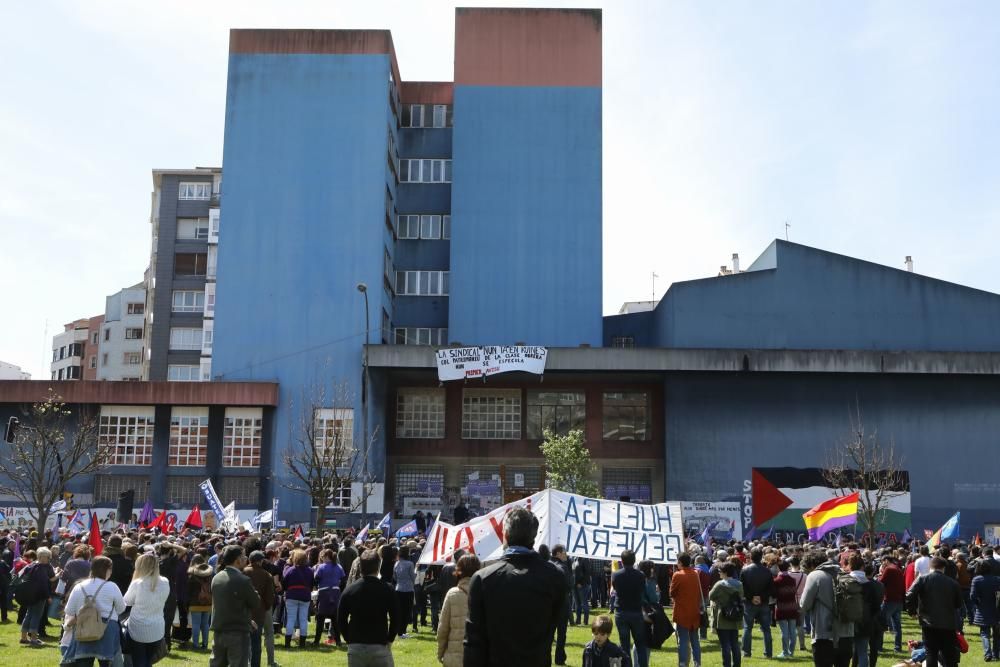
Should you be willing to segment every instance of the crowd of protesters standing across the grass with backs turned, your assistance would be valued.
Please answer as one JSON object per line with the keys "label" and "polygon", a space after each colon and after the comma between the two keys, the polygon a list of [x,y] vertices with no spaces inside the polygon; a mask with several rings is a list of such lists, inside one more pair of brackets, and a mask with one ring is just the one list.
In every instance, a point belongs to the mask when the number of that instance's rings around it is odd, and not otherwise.
{"label": "crowd of protesters standing across the grass with backs turned", "polygon": [[[585,667],[647,667],[671,635],[679,665],[700,665],[710,632],[724,667],[751,657],[757,633],[765,659],[809,652],[817,667],[876,667],[888,653],[953,667],[970,625],[984,659],[1000,660],[990,547],[692,541],[666,566],[629,550],[607,562],[536,549],[537,530],[515,508],[499,559],[459,550],[429,566],[417,564],[422,535],[3,531],[0,614],[7,622],[16,602],[24,646],[58,639],[61,664],[101,667],[146,667],[178,645],[212,666],[270,667],[276,641],[291,655],[346,644],[349,665],[392,665],[395,642],[428,631],[449,667],[563,665],[570,625],[590,628]],[[904,612],[921,628],[906,644]]]}

